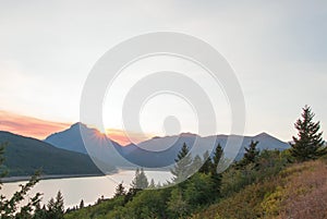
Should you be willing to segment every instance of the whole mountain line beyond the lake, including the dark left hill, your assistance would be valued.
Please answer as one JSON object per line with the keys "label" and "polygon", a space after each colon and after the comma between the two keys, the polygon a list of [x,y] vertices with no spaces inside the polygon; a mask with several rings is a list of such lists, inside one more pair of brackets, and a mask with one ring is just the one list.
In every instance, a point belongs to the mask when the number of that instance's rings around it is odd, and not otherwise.
{"label": "whole mountain line beyond the lake, including the dark left hill", "polygon": [[37,169],[41,169],[44,174],[101,174],[101,172],[108,173],[116,169],[135,166],[167,167],[169,170],[169,166],[174,163],[184,143],[193,156],[202,157],[206,150],[214,151],[218,144],[225,148],[228,139],[232,137],[243,138],[235,160],[243,157],[245,147],[251,141],[259,142],[257,145],[259,150],[289,148],[288,143],[267,133],[255,136],[199,136],[182,133],[153,137],[137,145],[121,146],[98,130],[90,129],[81,122],[71,125],[68,130],[49,135],[45,141],[0,131],[0,143],[9,143],[5,147],[4,166],[10,170],[10,175],[29,175]]}

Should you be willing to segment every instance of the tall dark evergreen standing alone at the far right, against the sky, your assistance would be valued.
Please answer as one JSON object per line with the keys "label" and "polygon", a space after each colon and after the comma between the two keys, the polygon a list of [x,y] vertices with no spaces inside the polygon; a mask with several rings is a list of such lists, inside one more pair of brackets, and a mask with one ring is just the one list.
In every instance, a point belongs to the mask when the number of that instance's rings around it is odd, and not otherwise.
{"label": "tall dark evergreen standing alone at the far right, against the sky", "polygon": [[294,126],[298,130],[298,137],[293,136],[291,143],[291,156],[296,161],[306,161],[317,159],[327,154],[327,147],[324,145],[323,132],[319,132],[319,122],[313,122],[315,114],[308,106],[303,108],[301,114]]}

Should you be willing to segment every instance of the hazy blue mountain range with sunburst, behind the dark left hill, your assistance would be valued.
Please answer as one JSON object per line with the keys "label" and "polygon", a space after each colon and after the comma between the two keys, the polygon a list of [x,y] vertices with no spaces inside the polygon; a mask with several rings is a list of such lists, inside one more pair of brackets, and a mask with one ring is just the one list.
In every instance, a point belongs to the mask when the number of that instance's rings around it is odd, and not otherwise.
{"label": "hazy blue mountain range with sunburst, behind the dark left hill", "polygon": [[[202,156],[206,150],[213,151],[218,144],[225,147],[229,137],[233,136],[211,135],[202,137],[192,133],[182,133],[173,136],[154,137],[137,145],[121,146],[110,141],[99,131],[89,129],[83,123],[75,123],[63,132],[51,134],[45,142],[72,151],[88,153],[92,157],[96,157],[105,163],[110,163],[118,168],[132,167],[134,165],[159,168],[174,163],[174,159],[184,143],[190,147],[193,155]],[[237,151],[237,160],[243,157],[245,147],[250,145],[251,141],[258,141],[257,148],[261,150],[283,150],[289,148],[288,143],[279,141],[267,133],[244,136],[242,145]],[[85,145],[88,146],[85,147]]]}

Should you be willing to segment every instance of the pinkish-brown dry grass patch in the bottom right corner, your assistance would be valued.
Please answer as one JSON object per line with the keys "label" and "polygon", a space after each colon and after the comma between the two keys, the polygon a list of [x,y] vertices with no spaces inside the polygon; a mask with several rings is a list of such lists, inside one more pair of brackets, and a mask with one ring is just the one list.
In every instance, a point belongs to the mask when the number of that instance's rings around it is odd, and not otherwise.
{"label": "pinkish-brown dry grass patch in the bottom right corner", "polygon": [[299,170],[284,185],[279,218],[327,218],[327,166],[312,161],[295,166]]}

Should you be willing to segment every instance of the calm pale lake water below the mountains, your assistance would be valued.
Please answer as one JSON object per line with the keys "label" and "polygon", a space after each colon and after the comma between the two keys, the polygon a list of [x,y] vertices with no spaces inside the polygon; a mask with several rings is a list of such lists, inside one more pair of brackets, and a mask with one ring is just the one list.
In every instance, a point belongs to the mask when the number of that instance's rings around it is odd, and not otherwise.
{"label": "calm pale lake water below the mountains", "polygon": [[[145,173],[148,181],[154,179],[156,184],[158,182],[165,183],[171,179],[170,172],[145,171]],[[33,194],[40,192],[44,194],[43,204],[46,204],[51,197],[56,197],[58,191],[61,191],[65,208],[80,205],[81,199],[84,200],[85,205],[94,204],[101,196],[105,198],[112,197],[120,182],[129,187],[134,174],[134,171],[120,171],[106,177],[41,180],[33,187],[29,196],[32,197]],[[4,183],[1,194],[10,197],[19,190],[19,185],[24,183],[26,182]]]}

